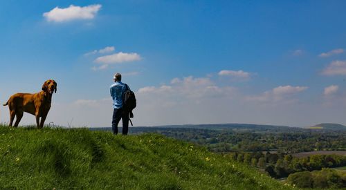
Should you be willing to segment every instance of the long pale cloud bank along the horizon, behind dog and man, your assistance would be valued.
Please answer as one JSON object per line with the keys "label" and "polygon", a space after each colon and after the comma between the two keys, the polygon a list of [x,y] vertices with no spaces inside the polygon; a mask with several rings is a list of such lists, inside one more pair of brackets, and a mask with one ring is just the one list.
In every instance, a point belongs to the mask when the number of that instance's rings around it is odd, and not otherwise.
{"label": "long pale cloud bank along the horizon, behind dog and man", "polygon": [[[340,93],[332,98],[321,98],[316,102],[299,102],[296,99],[305,91],[304,86],[277,86],[264,93],[250,97],[232,86],[221,86],[214,77],[179,77],[168,80],[164,85],[147,85],[137,90],[138,84],[129,84],[136,91],[137,107],[134,110],[135,126],[164,124],[212,124],[212,123],[253,123],[304,126],[312,122],[345,123],[346,99]],[[106,98],[76,99],[73,102],[58,102],[53,99],[46,124],[68,126],[111,126],[113,113],[112,99],[107,82],[104,86]],[[66,85],[61,85],[66,88]],[[95,88],[95,85],[89,86]],[[67,88],[66,88],[67,89]],[[66,91],[65,89],[65,91]],[[244,89],[248,89],[244,87]],[[249,93],[253,93],[252,90]],[[68,91],[68,90],[67,90]],[[340,89],[338,90],[339,93]],[[321,92],[322,94],[322,92]],[[249,94],[251,95],[251,94]],[[9,95],[0,94],[1,99]],[[59,96],[59,94],[57,94]],[[71,97],[73,98],[73,97]],[[341,99],[343,98],[343,99]],[[257,101],[255,101],[257,100]],[[327,101],[332,104],[318,104]],[[57,104],[59,103],[59,104]],[[307,104],[301,104],[307,103]],[[0,122],[8,122],[8,107],[0,106]],[[7,114],[6,114],[7,113]],[[25,113],[21,124],[35,124],[35,117]],[[122,122],[120,122],[121,126]],[[131,133],[131,129],[130,129]]]}

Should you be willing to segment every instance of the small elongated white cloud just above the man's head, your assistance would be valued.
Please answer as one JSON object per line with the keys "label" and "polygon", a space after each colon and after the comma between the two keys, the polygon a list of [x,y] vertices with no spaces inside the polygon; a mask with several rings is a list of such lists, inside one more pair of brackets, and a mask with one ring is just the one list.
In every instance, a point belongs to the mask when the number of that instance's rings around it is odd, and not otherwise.
{"label": "small elongated white cloud just above the man's head", "polygon": [[114,53],[112,55],[104,55],[95,59],[100,64],[120,64],[129,61],[139,61],[142,59],[137,53]]}

